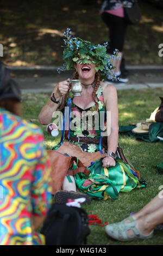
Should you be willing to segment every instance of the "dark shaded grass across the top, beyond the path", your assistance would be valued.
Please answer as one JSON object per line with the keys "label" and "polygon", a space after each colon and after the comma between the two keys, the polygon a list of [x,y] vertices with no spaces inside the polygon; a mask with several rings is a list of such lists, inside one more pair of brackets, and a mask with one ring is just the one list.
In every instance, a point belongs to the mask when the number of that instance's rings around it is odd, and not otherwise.
{"label": "dark shaded grass across the top, beyond the path", "polygon": [[[64,45],[62,33],[71,28],[74,35],[95,44],[109,41],[109,31],[99,15],[99,5],[82,0],[10,1],[0,3],[0,43],[3,61],[8,65],[60,65]],[[87,1],[89,3],[89,0]],[[129,26],[124,44],[126,64],[162,65],[162,9],[139,1],[141,21]]]}

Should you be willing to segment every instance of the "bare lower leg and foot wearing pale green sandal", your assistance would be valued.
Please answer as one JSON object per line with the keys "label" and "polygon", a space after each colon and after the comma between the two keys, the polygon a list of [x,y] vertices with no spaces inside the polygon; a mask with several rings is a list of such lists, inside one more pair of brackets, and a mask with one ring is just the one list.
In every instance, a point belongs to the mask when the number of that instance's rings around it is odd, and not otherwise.
{"label": "bare lower leg and foot wearing pale green sandal", "polygon": [[163,223],[163,198],[160,193],[133,216],[106,226],[106,233],[114,239],[130,241],[149,239],[155,227]]}

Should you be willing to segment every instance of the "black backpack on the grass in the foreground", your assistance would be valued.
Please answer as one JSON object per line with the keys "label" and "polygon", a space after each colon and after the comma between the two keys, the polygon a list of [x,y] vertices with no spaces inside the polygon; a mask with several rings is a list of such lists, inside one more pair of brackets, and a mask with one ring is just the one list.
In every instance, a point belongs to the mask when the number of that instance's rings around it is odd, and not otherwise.
{"label": "black backpack on the grass in the foreground", "polygon": [[40,233],[45,235],[46,245],[86,244],[90,234],[89,218],[82,208],[53,204]]}

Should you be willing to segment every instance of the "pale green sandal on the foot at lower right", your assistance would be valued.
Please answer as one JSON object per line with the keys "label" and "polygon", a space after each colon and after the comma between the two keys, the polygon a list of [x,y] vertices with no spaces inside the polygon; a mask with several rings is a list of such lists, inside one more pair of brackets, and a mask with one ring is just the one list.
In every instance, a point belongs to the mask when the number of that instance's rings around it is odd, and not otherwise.
{"label": "pale green sandal on the foot at lower right", "polygon": [[[127,219],[130,220],[130,222],[124,223]],[[131,237],[128,236],[128,230],[133,230],[134,235]],[[149,235],[143,235],[140,233],[140,231],[136,228],[136,222],[131,216],[125,218],[121,222],[106,225],[105,231],[106,234],[118,241],[132,241],[136,239],[146,240],[153,237],[153,231]]]}

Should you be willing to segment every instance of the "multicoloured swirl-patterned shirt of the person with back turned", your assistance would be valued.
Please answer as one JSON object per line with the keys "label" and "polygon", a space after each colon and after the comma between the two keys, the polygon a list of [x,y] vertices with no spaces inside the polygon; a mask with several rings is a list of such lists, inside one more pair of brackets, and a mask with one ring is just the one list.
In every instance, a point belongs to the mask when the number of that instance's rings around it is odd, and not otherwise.
{"label": "multicoloured swirl-patterned shirt of the person with back turned", "polygon": [[38,126],[0,108],[0,245],[44,245],[32,217],[51,205],[49,161]]}

